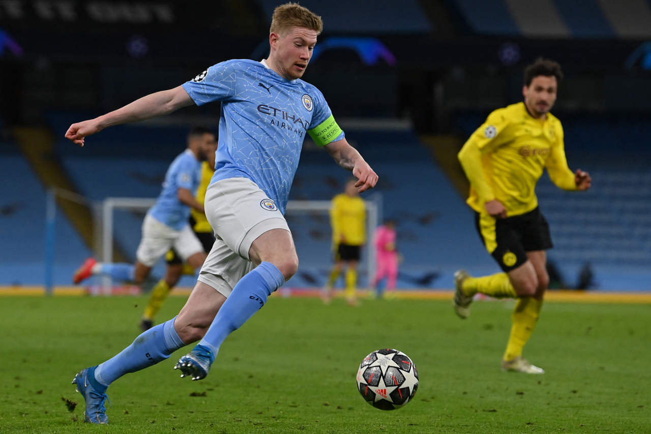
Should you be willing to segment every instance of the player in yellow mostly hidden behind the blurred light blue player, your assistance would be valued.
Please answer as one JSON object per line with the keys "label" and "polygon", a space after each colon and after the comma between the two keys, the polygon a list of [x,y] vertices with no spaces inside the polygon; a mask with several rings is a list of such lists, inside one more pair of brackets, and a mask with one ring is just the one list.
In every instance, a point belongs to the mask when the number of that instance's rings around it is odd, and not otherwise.
{"label": "player in yellow mostly hidden behind the blurred light blue player", "polygon": [[[212,175],[215,172],[215,152],[217,151],[217,139],[215,138],[215,134],[207,129],[205,130],[204,134],[202,134],[202,139],[210,143],[208,160],[204,161],[201,164],[201,182],[199,182],[197,194],[195,194],[195,199],[197,199],[197,202],[201,203],[203,206],[206,199],[206,189],[208,188],[210,179],[212,179]],[[197,235],[197,238],[199,241],[201,241],[201,245],[203,246],[204,251],[206,253],[210,253],[210,249],[212,249],[212,245],[215,242],[215,236],[213,235],[212,227],[210,227],[210,224],[208,223],[206,214],[200,212],[199,210],[191,209],[189,222],[195,235]],[[167,261],[165,278],[159,280],[158,283],[156,283],[156,285],[154,285],[152,288],[152,293],[149,297],[149,301],[145,307],[145,312],[143,313],[143,317],[140,321],[140,328],[143,330],[143,332],[152,328],[154,325],[154,317],[156,316],[156,313],[158,313],[161,306],[163,305],[163,302],[165,301],[165,298],[167,298],[167,295],[169,295],[169,293],[172,291],[172,288],[176,285],[176,283],[178,283],[181,276],[183,274],[194,276],[195,274],[195,269],[187,263],[184,264],[181,257],[173,248],[170,249],[169,252],[167,252],[165,255],[165,261]]]}

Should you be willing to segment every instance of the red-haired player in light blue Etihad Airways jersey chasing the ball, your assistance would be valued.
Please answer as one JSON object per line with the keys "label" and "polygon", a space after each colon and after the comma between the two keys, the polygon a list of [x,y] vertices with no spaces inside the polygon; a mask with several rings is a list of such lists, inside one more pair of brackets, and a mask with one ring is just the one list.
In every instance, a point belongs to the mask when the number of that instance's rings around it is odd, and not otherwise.
{"label": "red-haired player in light blue Etihad Airways jersey chasing the ball", "polygon": [[298,257],[283,212],[306,134],[352,171],[359,192],[378,181],[346,141],[324,96],[301,80],[322,27],[321,18],[307,8],[281,5],[273,12],[267,59],[218,63],[184,85],[72,124],[66,132],[83,145],[86,136],[107,126],[221,102],[217,167],[205,201],[215,244],[176,317],[150,328],[113,358],[77,373],[73,383],[86,400],[88,422],[107,423],[109,384],[189,343],[199,341],[174,368],[182,377],[204,378],[230,332],[296,273]]}

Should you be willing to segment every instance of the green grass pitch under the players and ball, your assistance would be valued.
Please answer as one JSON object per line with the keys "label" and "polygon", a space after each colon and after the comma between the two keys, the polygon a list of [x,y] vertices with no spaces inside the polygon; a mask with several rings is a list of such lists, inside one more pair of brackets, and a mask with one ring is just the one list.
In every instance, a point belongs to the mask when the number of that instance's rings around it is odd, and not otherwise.
{"label": "green grass pitch under the players and ball", "polygon": [[[182,297],[167,300],[159,319]],[[108,390],[108,426],[83,423],[76,371],[137,336],[145,297],[3,297],[0,433],[649,433],[651,305],[548,302],[525,356],[544,375],[503,373],[512,302],[270,298],[224,343],[203,381],[180,379],[186,353]],[[415,362],[411,403],[380,411],[355,388],[370,351]],[[76,402],[74,411],[65,399]]]}

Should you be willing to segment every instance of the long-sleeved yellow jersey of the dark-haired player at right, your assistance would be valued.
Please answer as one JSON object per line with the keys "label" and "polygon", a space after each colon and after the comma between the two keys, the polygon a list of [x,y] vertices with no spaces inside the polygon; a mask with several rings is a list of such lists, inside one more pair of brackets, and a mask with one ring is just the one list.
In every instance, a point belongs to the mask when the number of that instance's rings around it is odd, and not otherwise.
{"label": "long-sleeved yellow jersey of the dark-haired player at right", "polygon": [[535,209],[534,189],[545,168],[559,188],[577,189],[561,121],[551,113],[544,121],[535,119],[524,102],[490,113],[458,156],[471,185],[467,203],[477,212],[486,212],[484,203],[493,199],[503,203],[508,216]]}

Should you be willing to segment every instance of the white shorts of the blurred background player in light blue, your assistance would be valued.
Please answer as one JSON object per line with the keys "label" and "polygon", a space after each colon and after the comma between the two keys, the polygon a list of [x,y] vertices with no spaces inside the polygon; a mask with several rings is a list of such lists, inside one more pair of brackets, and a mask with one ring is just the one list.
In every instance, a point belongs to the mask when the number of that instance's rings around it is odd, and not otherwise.
{"label": "white shorts of the blurred background player in light blue", "polygon": [[143,237],[135,252],[136,259],[147,267],[154,267],[170,248],[174,248],[183,261],[195,253],[204,252],[201,241],[189,224],[177,231],[147,214],[143,221]]}

